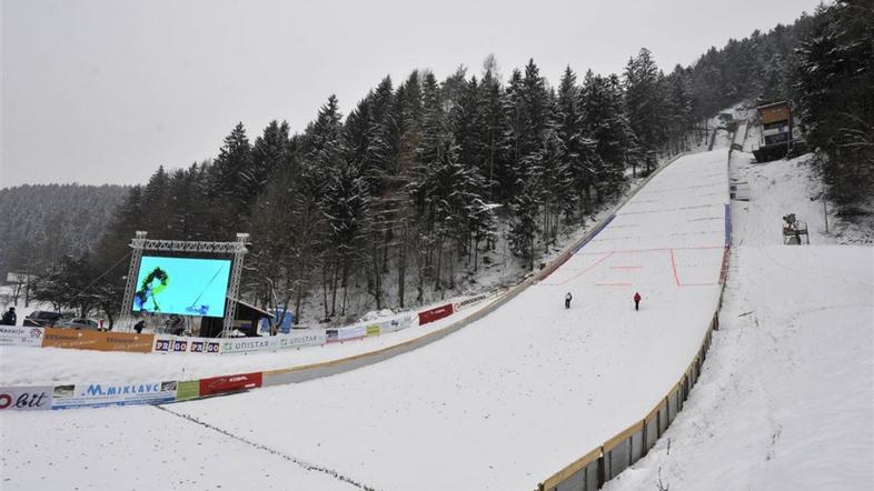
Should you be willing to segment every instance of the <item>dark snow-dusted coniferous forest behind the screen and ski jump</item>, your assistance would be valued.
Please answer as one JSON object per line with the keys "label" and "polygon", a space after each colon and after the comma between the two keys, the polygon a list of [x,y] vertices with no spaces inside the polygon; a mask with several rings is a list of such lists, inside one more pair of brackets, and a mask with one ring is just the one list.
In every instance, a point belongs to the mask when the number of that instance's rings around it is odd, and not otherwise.
{"label": "dark snow-dusted coniferous forest behind the screen and ski jump", "polygon": [[251,233],[245,297],[304,322],[360,313],[347,311],[350,294],[371,309],[449,297],[503,240],[523,271],[536,269],[563,230],[706,139],[704,122],[741,102],[791,100],[832,199],[852,207],[874,182],[872,60],[872,4],[844,0],[669,73],[642,49],[623,73],[568,66],[552,83],[535,60],[505,71],[493,56],[445,79],[386,77],[346,109],[328,97],[300,133],[239,123],[213,159],[159,168],[99,243],[56,261],[39,289],[88,289],[70,305],[117,311],[128,243],[147,230]]}

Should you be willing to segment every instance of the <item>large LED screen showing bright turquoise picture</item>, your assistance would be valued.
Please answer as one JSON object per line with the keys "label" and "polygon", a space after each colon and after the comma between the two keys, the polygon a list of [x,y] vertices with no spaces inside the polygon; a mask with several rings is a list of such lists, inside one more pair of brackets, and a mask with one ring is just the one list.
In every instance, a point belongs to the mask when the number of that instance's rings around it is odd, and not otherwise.
{"label": "large LED screen showing bright turquoise picture", "polygon": [[224,317],[230,260],[143,255],[135,312]]}

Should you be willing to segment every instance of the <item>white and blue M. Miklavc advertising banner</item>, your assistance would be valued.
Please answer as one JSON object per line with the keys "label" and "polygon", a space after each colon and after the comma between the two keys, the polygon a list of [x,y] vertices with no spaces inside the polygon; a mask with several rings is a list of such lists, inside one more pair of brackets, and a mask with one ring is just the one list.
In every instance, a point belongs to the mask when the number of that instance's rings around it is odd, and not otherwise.
{"label": "white and blue M. Miklavc advertising banner", "polygon": [[176,382],[56,385],[51,409],[160,404],[176,400]]}

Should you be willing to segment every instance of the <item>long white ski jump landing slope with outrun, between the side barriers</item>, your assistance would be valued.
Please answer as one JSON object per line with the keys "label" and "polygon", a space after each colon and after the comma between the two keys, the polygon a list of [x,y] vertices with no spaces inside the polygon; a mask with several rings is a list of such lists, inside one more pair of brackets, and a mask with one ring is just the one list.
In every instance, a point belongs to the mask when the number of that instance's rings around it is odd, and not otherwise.
{"label": "long white ski jump landing slope with outrun, between the side barriers", "polygon": [[[642,420],[694,358],[718,302],[727,189],[725,149],[678,159],[552,275],[457,333],[381,363],[163,409],[0,414],[3,472],[14,478],[4,484],[28,489],[58,474],[70,488],[121,489],[138,471],[137,484],[161,487],[200,457],[160,459],[161,439],[196,440],[208,425],[228,440],[218,453],[229,465],[265,469],[247,474],[247,488],[305,489],[296,480],[312,472],[307,462],[345,477],[349,489],[348,481],[529,491]],[[148,432],[147,422],[167,411],[190,430]],[[111,444],[86,432],[132,419]],[[79,423],[71,429],[69,420]],[[54,427],[63,427],[63,441]],[[162,463],[138,467],[138,459]],[[128,472],[113,481],[81,471],[93,462]],[[209,479],[172,482],[202,489]]]}

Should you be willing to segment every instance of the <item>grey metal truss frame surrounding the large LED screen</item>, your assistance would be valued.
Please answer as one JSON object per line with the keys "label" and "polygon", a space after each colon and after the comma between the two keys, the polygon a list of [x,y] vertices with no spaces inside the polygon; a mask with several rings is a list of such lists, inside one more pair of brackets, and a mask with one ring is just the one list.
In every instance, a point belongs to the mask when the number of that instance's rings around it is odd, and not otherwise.
{"label": "grey metal truss frame surrounding the large LED screen", "polygon": [[234,254],[226,294],[225,319],[221,325],[221,337],[227,338],[234,328],[234,317],[237,313],[237,295],[240,290],[240,277],[242,275],[242,261],[248,252],[248,233],[238,233],[234,242],[211,242],[193,240],[156,240],[147,239],[149,232],[138,230],[130,241],[132,252],[130,254],[130,267],[128,268],[127,285],[125,287],[125,299],[121,302],[121,315],[119,324],[122,329],[132,330],[131,318],[133,311],[133,294],[137,291],[137,273],[142,261],[142,251],[167,251],[167,252],[200,252],[206,254]]}

